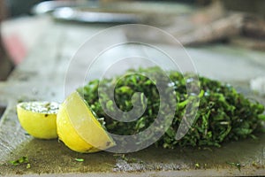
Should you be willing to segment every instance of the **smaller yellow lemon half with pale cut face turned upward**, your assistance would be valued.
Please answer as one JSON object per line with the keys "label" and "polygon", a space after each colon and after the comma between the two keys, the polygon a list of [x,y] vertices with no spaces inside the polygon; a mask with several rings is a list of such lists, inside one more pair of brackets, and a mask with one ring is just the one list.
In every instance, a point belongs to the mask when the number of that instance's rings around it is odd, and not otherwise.
{"label": "smaller yellow lemon half with pale cut face turned upward", "polygon": [[21,127],[29,135],[40,139],[57,138],[57,112],[55,102],[22,102],[17,104]]}

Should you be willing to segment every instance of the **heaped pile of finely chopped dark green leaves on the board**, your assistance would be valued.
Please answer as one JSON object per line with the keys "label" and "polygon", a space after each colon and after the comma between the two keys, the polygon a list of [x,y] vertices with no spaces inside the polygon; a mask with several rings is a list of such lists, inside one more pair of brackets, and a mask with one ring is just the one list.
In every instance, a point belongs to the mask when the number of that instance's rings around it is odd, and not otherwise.
{"label": "heaped pile of finely chopped dark green leaves on the board", "polygon": [[[134,135],[147,127],[154,121],[159,112],[160,96],[155,86],[155,81],[148,79],[145,75],[153,75],[159,78],[161,71],[157,67],[148,69],[140,68],[137,71],[128,71],[134,74],[127,74],[122,78],[103,79],[102,81],[90,81],[83,88],[79,88],[80,95],[84,96],[87,104],[96,113],[99,118],[104,119],[104,127],[108,132],[115,135]],[[186,83],[189,75],[183,75],[178,72],[169,72],[170,83],[168,85],[175,91],[174,96],[177,99],[175,116],[170,122],[170,127],[165,134],[155,142],[156,146],[173,149],[177,146],[220,146],[222,142],[237,141],[246,137],[255,137],[254,134],[261,131],[262,121],[264,120],[264,106],[248,100],[245,96],[239,94],[236,89],[228,84],[222,84],[219,81],[209,80],[205,77],[199,77],[200,82],[200,104],[198,112],[188,133],[176,140],[175,136],[179,124],[186,112],[188,101],[192,94],[187,94]],[[192,76],[191,76],[192,77]],[[99,103],[98,87],[105,88],[105,93],[101,99],[106,104]],[[115,103],[110,101],[108,88],[115,87]],[[165,90],[166,91],[166,90]],[[133,93],[140,92],[147,98],[147,108],[139,119],[132,122],[122,122],[111,119],[102,106],[112,110],[113,104],[123,112],[129,112],[133,109]],[[142,100],[144,102],[146,100]],[[166,111],[168,108],[162,106]],[[136,108],[135,108],[136,109]],[[163,110],[160,110],[163,112]],[[166,112],[164,113],[166,116]]]}

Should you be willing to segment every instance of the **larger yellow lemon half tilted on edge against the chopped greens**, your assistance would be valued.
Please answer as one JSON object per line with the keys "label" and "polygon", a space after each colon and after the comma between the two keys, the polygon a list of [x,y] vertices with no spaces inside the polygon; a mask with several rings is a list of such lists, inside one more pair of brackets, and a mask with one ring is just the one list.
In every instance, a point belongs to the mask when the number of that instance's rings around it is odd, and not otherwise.
{"label": "larger yellow lemon half tilted on edge against the chopped greens", "polygon": [[57,133],[66,146],[82,153],[116,145],[78,92],[73,92],[61,104],[57,114]]}

